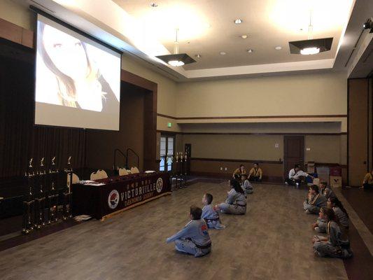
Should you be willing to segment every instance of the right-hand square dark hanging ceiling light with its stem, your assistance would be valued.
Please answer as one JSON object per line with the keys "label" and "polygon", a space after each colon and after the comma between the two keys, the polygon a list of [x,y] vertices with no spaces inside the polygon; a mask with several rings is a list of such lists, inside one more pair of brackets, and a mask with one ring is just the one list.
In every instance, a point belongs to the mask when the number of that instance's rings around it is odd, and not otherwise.
{"label": "right-hand square dark hanging ceiling light with its stem", "polygon": [[308,40],[289,42],[290,53],[300,55],[316,55],[319,52],[326,52],[332,48],[333,38],[312,38],[314,29],[312,22],[312,12],[309,13]]}

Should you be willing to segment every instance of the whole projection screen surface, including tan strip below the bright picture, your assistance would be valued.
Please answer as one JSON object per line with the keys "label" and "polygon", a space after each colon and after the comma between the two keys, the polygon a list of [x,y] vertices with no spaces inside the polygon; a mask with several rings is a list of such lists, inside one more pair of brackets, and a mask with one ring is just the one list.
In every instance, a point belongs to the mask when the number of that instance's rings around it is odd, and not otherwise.
{"label": "whole projection screen surface, including tan strip below the bright picture", "polygon": [[82,37],[38,20],[35,123],[118,130],[120,54]]}

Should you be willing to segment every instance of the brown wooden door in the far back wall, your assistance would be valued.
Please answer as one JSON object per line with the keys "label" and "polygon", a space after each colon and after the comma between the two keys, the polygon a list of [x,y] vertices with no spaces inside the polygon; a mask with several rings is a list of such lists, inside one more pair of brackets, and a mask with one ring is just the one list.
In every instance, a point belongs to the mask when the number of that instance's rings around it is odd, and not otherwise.
{"label": "brown wooden door in the far back wall", "polygon": [[283,178],[287,178],[294,165],[304,166],[304,137],[283,137]]}

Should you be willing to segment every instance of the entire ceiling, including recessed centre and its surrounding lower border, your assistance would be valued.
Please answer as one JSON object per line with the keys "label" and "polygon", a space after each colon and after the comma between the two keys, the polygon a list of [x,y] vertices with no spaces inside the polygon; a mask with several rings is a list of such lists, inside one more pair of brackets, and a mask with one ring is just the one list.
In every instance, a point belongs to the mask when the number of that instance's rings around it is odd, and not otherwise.
{"label": "entire ceiling, including recessed centre and its surrounding lower border", "polygon": [[[315,71],[346,71],[350,76],[360,57],[367,69],[373,57],[365,51],[373,42],[369,31],[355,46],[363,22],[373,15],[372,0],[13,1],[52,13],[178,82]],[[150,7],[152,1],[156,8]],[[290,55],[289,41],[307,39],[310,12],[313,38],[333,37],[332,50]],[[234,24],[236,18],[243,20],[241,25]],[[201,55],[196,63],[174,67],[157,59],[173,52],[176,28],[180,52]],[[241,38],[243,34],[248,38]]]}

